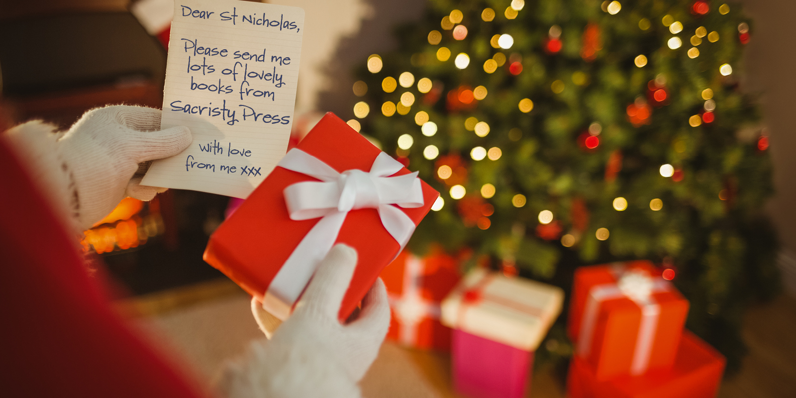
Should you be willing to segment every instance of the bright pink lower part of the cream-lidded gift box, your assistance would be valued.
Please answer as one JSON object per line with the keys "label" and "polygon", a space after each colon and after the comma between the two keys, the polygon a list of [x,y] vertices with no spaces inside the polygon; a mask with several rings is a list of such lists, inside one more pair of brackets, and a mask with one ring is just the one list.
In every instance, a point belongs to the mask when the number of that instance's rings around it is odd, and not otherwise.
{"label": "bright pink lower part of the cream-lidded gift box", "polygon": [[533,367],[533,351],[453,330],[453,383],[473,398],[521,398]]}

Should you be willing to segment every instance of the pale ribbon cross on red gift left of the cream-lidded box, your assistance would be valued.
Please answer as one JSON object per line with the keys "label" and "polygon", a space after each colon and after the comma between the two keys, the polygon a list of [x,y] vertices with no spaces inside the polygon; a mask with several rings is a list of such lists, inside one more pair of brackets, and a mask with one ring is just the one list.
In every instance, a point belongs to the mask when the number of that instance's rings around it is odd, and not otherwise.
{"label": "pale ribbon cross on red gift left of the cream-lidded box", "polygon": [[404,284],[400,297],[390,295],[390,306],[400,320],[398,339],[404,345],[416,345],[417,327],[425,318],[439,319],[442,310],[439,302],[432,302],[420,295],[423,280],[423,260],[409,255],[404,264]]}

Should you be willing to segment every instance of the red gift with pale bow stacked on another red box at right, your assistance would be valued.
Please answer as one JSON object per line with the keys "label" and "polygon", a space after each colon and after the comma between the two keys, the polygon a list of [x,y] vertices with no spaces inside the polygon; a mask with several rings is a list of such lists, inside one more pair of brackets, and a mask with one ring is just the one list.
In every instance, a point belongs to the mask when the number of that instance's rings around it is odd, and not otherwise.
{"label": "red gift with pale bow stacked on another red box at right", "polygon": [[[634,295],[638,288],[647,295]],[[638,375],[673,364],[688,310],[689,302],[649,261],[580,267],[568,334],[599,380]]]}

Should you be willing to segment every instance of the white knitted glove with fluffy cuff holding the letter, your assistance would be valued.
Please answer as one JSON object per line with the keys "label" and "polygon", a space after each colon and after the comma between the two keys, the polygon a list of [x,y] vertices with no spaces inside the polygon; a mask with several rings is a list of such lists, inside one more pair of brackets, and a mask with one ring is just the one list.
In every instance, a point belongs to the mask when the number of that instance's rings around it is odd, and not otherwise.
{"label": "white knitted glove with fluffy cuff holding the letter", "polygon": [[160,114],[148,107],[101,107],[62,134],[29,122],[9,136],[38,169],[33,177],[50,185],[80,228],[88,229],[125,197],[150,201],[165,190],[139,185],[146,162],[179,154],[192,138],[188,127],[160,131]]}

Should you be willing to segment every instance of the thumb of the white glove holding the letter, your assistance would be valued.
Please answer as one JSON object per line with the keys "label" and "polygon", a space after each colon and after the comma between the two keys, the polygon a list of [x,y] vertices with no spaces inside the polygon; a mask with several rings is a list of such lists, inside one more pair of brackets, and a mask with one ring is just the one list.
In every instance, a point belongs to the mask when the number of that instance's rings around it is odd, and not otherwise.
{"label": "thumb of the white glove holding the letter", "polygon": [[128,133],[127,142],[133,145],[133,160],[136,163],[168,158],[179,154],[193,141],[188,127],[178,126],[161,131],[135,131]]}

